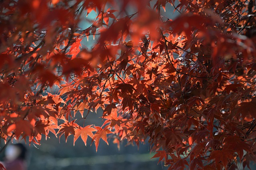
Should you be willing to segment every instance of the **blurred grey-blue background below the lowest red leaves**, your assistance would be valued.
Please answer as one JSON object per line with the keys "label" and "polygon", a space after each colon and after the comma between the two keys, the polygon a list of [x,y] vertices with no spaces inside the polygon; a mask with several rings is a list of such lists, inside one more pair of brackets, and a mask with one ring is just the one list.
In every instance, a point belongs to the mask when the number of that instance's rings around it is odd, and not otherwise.
{"label": "blurred grey-blue background below the lowest red leaves", "polygon": [[[16,141],[14,141],[16,143]],[[109,141],[107,145],[100,141],[98,152],[95,145],[90,146],[91,139],[87,141],[87,147],[82,139],[76,141],[73,146],[73,137],[68,137],[67,143],[64,137],[60,141],[54,135],[50,139],[42,139],[40,146],[26,145],[28,149],[28,170],[167,170],[161,162],[157,165],[158,158],[152,158],[149,146],[140,145],[125,146],[126,142],[117,145]],[[4,143],[1,143],[1,148]],[[152,158],[152,159],[151,159]],[[0,160],[4,161],[4,152],[0,154]]]}

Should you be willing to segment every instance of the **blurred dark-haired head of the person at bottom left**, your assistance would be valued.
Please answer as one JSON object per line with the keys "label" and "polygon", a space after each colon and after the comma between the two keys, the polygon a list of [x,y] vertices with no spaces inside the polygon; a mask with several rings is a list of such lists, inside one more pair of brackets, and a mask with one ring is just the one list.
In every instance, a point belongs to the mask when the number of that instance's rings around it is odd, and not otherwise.
{"label": "blurred dark-haired head of the person at bottom left", "polygon": [[5,157],[9,161],[16,160],[16,159],[25,160],[26,152],[27,152],[27,149],[23,144],[21,143],[12,144],[6,148]]}

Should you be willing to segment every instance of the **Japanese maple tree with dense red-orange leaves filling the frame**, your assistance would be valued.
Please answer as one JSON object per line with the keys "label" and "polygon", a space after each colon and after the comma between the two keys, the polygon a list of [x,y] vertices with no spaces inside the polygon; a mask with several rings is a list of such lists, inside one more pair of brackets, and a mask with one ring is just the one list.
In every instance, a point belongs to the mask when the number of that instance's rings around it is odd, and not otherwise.
{"label": "Japanese maple tree with dense red-orange leaves filling the frame", "polygon": [[[176,19],[166,15],[170,6]],[[39,145],[53,133],[86,145],[89,137],[96,150],[108,137],[118,146],[148,140],[169,170],[250,168],[255,6],[0,0],[0,139]],[[96,18],[86,18],[90,13]],[[84,20],[89,27],[79,27]],[[84,47],[91,36],[92,48]],[[86,121],[92,111],[103,111],[102,127]]]}

